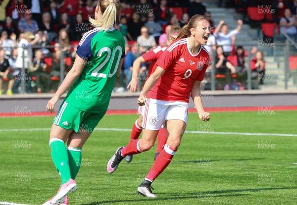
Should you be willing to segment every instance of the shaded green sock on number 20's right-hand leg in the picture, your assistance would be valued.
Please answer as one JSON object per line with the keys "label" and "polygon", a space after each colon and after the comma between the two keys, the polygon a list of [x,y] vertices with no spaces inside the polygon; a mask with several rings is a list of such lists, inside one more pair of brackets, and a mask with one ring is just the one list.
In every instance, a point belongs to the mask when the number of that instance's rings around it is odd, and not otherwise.
{"label": "shaded green sock on number 20's right-hand leg in the picture", "polygon": [[71,178],[75,179],[82,161],[82,149],[67,146]]}

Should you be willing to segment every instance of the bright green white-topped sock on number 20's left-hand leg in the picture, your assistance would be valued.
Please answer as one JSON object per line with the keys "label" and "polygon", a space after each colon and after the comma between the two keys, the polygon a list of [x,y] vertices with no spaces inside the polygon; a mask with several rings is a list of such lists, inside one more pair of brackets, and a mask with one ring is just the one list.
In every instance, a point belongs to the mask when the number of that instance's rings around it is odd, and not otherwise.
{"label": "bright green white-topped sock on number 20's left-hand leg in the picture", "polygon": [[49,146],[51,148],[52,161],[60,174],[62,184],[64,184],[71,178],[68,153],[65,144],[63,140],[54,138],[49,141]]}

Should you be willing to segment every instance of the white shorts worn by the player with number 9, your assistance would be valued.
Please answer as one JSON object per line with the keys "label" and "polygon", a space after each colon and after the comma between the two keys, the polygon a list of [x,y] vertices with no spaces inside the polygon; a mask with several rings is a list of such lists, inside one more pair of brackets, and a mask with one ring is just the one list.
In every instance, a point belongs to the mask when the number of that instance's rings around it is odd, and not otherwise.
{"label": "white shorts worn by the player with number 9", "polygon": [[187,124],[188,121],[187,102],[161,101],[147,99],[146,105],[142,109],[144,119],[142,127],[148,130],[159,130],[166,120],[182,120]]}

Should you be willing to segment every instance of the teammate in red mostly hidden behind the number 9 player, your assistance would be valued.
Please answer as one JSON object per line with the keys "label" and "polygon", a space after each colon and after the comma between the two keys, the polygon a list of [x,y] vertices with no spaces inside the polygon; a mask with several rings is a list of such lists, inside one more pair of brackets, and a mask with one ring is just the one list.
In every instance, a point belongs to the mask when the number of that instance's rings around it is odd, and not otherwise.
{"label": "teammate in red mostly hidden behind the number 9 player", "polygon": [[[179,35],[179,31],[181,30],[181,27],[177,26],[177,25],[173,25],[169,31],[169,36],[167,38],[167,44],[170,45],[172,43],[172,41],[176,40],[176,38]],[[139,73],[139,69],[141,67],[141,64],[144,62],[149,62],[150,61],[150,65],[148,68],[148,76],[151,73],[153,73],[153,71],[156,69],[156,61],[161,57],[163,51],[165,51],[167,49],[166,47],[160,47],[158,46],[157,48],[155,48],[154,50],[148,51],[145,54],[143,54],[142,56],[138,57],[134,63],[133,63],[133,75],[132,75],[132,80],[128,85],[128,88],[130,87],[131,92],[135,92],[137,90],[138,87],[138,73]],[[132,128],[132,132],[131,132],[131,136],[130,136],[130,142],[137,140],[143,130],[142,127],[142,122],[143,122],[143,116],[144,116],[144,106],[140,106],[138,109],[139,112],[139,118],[135,121],[133,128]],[[167,132],[166,130],[162,127],[159,130],[158,133],[158,143],[157,143],[157,150],[156,153],[154,155],[154,159],[157,158],[157,156],[160,154],[160,152],[163,150],[164,145],[166,143],[167,140]],[[125,157],[127,162],[131,162],[132,161],[132,156],[133,155],[127,155]]]}

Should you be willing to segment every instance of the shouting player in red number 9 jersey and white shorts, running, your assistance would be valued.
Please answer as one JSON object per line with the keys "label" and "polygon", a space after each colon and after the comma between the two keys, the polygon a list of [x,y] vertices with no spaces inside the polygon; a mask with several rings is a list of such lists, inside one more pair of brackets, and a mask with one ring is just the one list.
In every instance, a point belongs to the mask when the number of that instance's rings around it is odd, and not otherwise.
{"label": "shouting player in red number 9 jersey and white shorts, running", "polygon": [[164,51],[138,99],[139,105],[145,105],[142,139],[129,143],[125,148],[118,148],[108,161],[107,171],[113,173],[125,156],[148,151],[164,123],[167,142],[138,187],[139,194],[157,197],[151,192],[150,185],[177,152],[187,125],[190,95],[200,120],[208,121],[210,118],[210,114],[203,109],[200,96],[200,82],[210,62],[210,55],[203,47],[207,43],[209,30],[209,22],[197,14],[182,28],[178,40]]}

